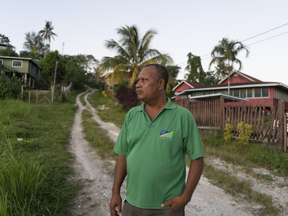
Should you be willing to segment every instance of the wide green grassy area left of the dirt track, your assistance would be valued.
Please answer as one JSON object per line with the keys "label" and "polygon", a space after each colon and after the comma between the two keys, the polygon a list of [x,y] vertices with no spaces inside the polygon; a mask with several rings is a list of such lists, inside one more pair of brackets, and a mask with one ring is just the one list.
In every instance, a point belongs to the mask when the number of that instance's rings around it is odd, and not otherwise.
{"label": "wide green grassy area left of the dirt track", "polygon": [[80,185],[68,180],[73,171],[66,147],[79,93],[72,91],[64,103],[0,101],[0,215],[71,215]]}

